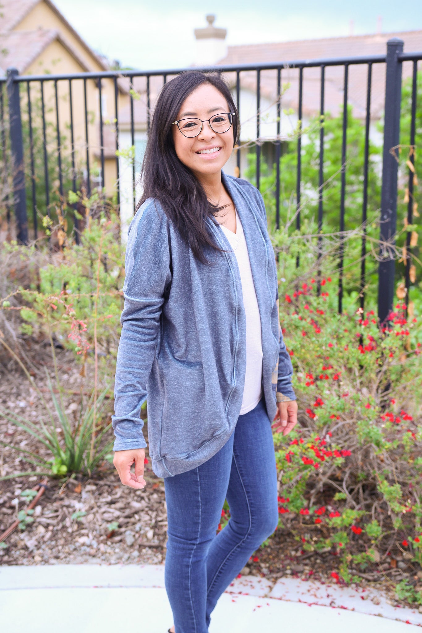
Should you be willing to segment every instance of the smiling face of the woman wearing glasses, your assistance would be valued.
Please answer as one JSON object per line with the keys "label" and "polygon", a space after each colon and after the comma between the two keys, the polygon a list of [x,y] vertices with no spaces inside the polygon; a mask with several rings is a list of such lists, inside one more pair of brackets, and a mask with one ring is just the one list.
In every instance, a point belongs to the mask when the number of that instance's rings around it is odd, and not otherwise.
{"label": "smiling face of the woman wearing glasses", "polygon": [[[191,139],[177,125],[172,126],[178,159],[199,178],[221,172],[233,151],[233,125],[227,132],[217,133],[208,123],[213,115],[225,112],[230,109],[221,92],[211,84],[202,84],[183,101],[177,115],[177,120],[194,117],[204,121],[199,135]],[[180,125],[183,128],[183,123]]]}

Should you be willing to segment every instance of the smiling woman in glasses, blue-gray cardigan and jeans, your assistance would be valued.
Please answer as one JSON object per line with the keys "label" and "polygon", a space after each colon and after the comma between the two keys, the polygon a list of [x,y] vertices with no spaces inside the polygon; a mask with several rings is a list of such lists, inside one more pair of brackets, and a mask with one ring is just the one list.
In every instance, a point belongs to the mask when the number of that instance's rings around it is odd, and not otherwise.
{"label": "smiling woman in glasses, blue-gray cardigan and jeans", "polygon": [[[146,485],[147,399],[149,454],[166,491],[171,633],[207,633],[221,593],[275,530],[271,422],[284,434],[297,422],[263,198],[222,172],[238,132],[218,75],[166,84],[128,231],[114,463],[123,484]],[[225,499],[231,518],[216,534]]]}

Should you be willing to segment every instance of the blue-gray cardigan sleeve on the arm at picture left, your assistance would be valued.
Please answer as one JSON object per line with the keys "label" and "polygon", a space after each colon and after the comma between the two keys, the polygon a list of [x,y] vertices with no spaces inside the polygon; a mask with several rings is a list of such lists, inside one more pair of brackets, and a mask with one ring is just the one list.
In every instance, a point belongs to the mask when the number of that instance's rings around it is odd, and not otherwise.
{"label": "blue-gray cardigan sleeve on the arm at picture left", "polygon": [[140,408],[147,399],[161,309],[171,285],[168,221],[153,200],[146,201],[130,223],[125,273],[112,416],[115,451],[147,445]]}

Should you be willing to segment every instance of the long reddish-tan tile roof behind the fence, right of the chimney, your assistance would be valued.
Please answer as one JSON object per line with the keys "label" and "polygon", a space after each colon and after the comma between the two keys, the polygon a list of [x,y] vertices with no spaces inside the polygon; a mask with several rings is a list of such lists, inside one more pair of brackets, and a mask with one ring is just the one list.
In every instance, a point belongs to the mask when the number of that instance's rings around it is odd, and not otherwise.
{"label": "long reddish-tan tile roof behind the fence, right of the chimney", "polygon": [[[326,39],[277,42],[275,44],[248,44],[229,46],[225,58],[218,65],[271,63],[273,61],[303,61],[344,57],[360,57],[385,54],[387,41],[399,37],[404,41],[404,51],[422,51],[422,30],[380,35],[357,35],[355,37],[335,37]],[[320,68],[304,68],[303,71],[303,113],[311,116],[320,110],[321,71]],[[411,75],[411,64],[404,63],[403,78]],[[366,113],[366,85],[368,66],[349,66],[349,103],[354,116],[363,118]],[[228,76],[234,84],[234,75]],[[245,89],[256,91],[256,73],[243,72],[240,83]],[[284,87],[282,108],[299,106],[299,71],[287,68],[282,71]],[[325,111],[337,115],[344,98],[344,67],[330,66],[325,70]],[[380,118],[384,107],[385,64],[375,64],[372,69],[371,117]],[[261,72],[261,94],[270,101],[276,99],[276,72]],[[242,118],[242,113],[240,113]]]}

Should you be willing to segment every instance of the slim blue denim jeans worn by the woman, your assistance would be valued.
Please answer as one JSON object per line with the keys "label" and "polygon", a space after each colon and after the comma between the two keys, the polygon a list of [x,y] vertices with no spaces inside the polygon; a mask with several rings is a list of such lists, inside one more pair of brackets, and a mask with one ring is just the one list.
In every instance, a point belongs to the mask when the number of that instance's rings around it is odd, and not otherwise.
{"label": "slim blue denim jeans worn by the woman", "polygon": [[[278,523],[273,434],[264,399],[239,416],[218,453],[166,477],[164,486],[165,582],[176,633],[207,633],[218,598]],[[231,518],[216,535],[225,499]]]}

